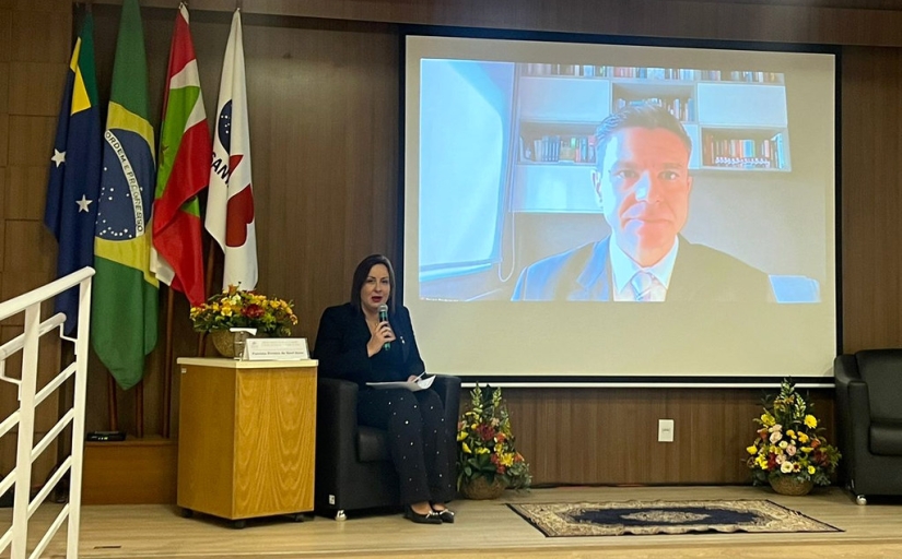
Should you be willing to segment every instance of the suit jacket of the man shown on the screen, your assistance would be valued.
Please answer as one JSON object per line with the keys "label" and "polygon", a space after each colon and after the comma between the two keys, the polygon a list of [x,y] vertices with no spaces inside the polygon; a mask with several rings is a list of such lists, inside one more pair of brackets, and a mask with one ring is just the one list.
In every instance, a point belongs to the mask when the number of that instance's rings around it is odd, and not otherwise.
{"label": "suit jacket of the man shown on the screen", "polygon": [[[512,300],[612,301],[610,236],[527,266]],[[772,301],[768,274],[680,237],[667,301]]]}

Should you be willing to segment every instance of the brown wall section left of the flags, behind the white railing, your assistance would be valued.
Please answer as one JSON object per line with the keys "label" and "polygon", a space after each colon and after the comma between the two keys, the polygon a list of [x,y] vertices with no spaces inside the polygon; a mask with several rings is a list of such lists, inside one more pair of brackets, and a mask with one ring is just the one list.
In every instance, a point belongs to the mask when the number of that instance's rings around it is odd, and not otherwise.
{"label": "brown wall section left of the flags, behind the white railing", "polygon": [[[44,227],[44,197],[56,117],[69,63],[72,10],[68,0],[0,0],[0,300],[38,287],[56,276],[56,241]],[[44,314],[52,309],[48,306]],[[24,314],[0,323],[0,343],[23,331]],[[38,384],[58,371],[60,343],[40,344]],[[8,371],[21,368],[21,354]],[[0,384],[0,417],[19,405],[15,386]],[[37,409],[35,440],[58,417],[55,394]],[[16,431],[17,432],[17,431]],[[0,439],[0,474],[15,465],[16,432]],[[32,471],[44,481],[57,462],[56,444]]]}

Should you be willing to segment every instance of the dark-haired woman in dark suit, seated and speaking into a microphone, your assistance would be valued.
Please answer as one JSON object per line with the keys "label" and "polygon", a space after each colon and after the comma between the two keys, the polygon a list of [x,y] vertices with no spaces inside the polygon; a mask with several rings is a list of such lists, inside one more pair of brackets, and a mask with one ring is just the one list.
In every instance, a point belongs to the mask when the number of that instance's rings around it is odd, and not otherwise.
{"label": "dark-haired woman in dark suit, seated and speaking into a microphone", "polygon": [[[438,394],[366,385],[413,380],[425,371],[410,312],[395,304],[394,290],[391,262],[382,254],[363,259],[354,271],[351,301],[323,312],[314,355],[324,377],[360,384],[358,420],[388,431],[405,516],[423,524],[454,522],[445,507],[455,490],[445,456],[450,431]],[[388,320],[379,320],[382,306]]]}

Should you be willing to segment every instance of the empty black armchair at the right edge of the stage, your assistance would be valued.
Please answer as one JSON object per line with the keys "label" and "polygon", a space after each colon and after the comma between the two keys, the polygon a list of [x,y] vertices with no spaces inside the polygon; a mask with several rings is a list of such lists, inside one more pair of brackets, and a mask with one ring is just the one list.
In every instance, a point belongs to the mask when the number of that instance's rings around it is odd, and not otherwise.
{"label": "empty black armchair at the right edge of the stage", "polygon": [[840,451],[858,504],[902,495],[902,349],[869,349],[833,361]]}

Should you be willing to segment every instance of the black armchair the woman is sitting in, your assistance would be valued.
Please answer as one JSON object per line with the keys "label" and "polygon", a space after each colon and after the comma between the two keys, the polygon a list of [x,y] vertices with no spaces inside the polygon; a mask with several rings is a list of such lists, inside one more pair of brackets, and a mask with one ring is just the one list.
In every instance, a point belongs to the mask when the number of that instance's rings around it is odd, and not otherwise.
{"label": "black armchair the woman is sitting in", "polygon": [[[320,378],[316,405],[316,497],[319,512],[344,520],[345,512],[400,507],[398,475],[388,452],[388,433],[358,425],[354,382]],[[432,390],[445,406],[445,423],[456,431],[460,379],[437,376]],[[457,449],[449,439],[447,456],[456,477]]]}

